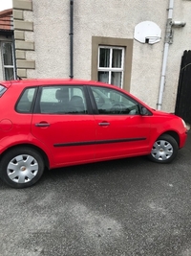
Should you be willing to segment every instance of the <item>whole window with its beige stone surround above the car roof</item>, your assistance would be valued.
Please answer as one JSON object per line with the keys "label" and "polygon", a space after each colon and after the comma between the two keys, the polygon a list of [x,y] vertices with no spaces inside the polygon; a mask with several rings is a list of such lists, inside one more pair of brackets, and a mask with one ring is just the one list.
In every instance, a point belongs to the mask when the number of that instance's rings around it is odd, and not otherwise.
{"label": "whole window with its beige stone surround above the car roof", "polygon": [[105,81],[130,91],[133,39],[93,36],[93,81]]}

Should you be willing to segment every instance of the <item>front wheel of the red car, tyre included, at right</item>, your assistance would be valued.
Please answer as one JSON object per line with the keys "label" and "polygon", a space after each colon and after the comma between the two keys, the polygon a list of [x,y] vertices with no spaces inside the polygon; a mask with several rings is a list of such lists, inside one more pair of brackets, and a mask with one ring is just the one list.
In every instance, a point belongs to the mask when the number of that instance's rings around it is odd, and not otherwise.
{"label": "front wheel of the red car, tyre included, at right", "polygon": [[149,159],[157,163],[170,163],[178,151],[177,141],[172,136],[163,134],[154,143]]}

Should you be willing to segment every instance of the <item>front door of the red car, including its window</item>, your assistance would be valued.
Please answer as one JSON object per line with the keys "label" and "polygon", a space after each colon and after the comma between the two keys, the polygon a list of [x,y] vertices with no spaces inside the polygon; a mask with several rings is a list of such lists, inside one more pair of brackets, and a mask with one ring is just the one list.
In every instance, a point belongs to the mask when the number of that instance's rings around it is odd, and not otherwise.
{"label": "front door of the red car, including its window", "polygon": [[91,88],[97,107],[96,158],[148,152],[151,118],[139,114],[138,102],[116,89]]}

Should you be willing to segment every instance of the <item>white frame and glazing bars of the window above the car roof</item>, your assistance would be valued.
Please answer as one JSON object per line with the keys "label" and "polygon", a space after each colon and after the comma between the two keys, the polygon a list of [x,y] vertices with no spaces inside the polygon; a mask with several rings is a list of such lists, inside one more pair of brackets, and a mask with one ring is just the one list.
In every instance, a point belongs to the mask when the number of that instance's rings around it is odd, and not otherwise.
{"label": "white frame and glazing bars of the window above the car roof", "polygon": [[[99,67],[99,56],[100,56],[100,49],[109,49],[110,50],[110,64],[109,67]],[[122,57],[121,57],[121,67],[114,68],[112,67],[112,59],[113,59],[113,50],[122,50]],[[125,48],[124,47],[114,47],[114,46],[107,46],[107,45],[100,45],[98,47],[98,63],[97,63],[97,72],[109,72],[109,82],[111,84],[112,81],[112,72],[121,72],[121,81],[120,81],[120,88],[123,88],[123,78],[124,78],[124,55],[125,55]],[[117,86],[117,85],[116,85]]]}

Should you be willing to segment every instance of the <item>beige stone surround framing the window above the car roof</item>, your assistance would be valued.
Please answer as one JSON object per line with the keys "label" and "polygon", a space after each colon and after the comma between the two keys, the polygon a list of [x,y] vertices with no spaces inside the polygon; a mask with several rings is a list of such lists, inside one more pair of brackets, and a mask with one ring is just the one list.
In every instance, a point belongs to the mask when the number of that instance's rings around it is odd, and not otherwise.
{"label": "beige stone surround framing the window above the car roof", "polygon": [[131,73],[132,73],[132,58],[133,58],[133,42],[134,39],[92,36],[92,74],[93,81],[98,80],[97,76],[97,63],[98,63],[98,47],[111,46],[111,47],[124,47],[124,73],[123,73],[123,86],[122,88],[130,91]]}

